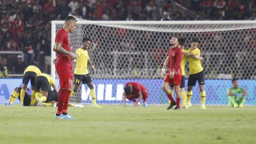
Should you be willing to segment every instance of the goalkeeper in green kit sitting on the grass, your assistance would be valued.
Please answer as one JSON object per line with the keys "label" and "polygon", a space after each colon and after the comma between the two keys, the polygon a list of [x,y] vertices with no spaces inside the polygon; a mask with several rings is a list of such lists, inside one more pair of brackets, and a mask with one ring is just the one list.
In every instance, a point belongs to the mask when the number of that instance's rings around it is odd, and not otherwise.
{"label": "goalkeeper in green kit sitting on the grass", "polygon": [[232,79],[233,87],[228,89],[228,105],[231,107],[242,108],[245,102],[245,97],[248,94],[247,91],[238,86],[238,79]]}

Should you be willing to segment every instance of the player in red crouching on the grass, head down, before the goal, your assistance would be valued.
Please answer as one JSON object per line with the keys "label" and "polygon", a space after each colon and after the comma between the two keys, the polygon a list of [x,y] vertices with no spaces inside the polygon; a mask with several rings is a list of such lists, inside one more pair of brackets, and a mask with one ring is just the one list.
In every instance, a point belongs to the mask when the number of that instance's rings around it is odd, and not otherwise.
{"label": "player in red crouching on the grass, head down, before the goal", "polygon": [[[139,82],[128,82],[125,84],[125,92],[124,95],[124,107],[126,98],[135,102],[134,107],[138,106],[138,103],[141,99],[143,99],[143,107],[147,107],[146,99],[148,97],[148,90]],[[137,100],[136,100],[137,98]]]}

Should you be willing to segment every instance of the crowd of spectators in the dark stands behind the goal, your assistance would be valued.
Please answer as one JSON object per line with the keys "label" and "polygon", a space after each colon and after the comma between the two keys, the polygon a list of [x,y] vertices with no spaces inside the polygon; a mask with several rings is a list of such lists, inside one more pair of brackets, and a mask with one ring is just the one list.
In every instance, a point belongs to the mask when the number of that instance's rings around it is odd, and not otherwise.
{"label": "crowd of spectators in the dark stands behind the goal", "polygon": [[[254,0],[173,1],[205,20],[256,19]],[[50,73],[50,22],[63,20],[70,13],[89,20],[196,20],[168,0],[0,0],[0,5],[0,54],[1,51],[19,51],[24,55],[22,59],[20,54],[1,54],[6,62],[1,60],[0,65],[8,71],[7,74],[22,74],[31,64]],[[141,36],[150,37],[153,33]],[[96,39],[100,37],[91,38],[97,43]],[[136,47],[134,39],[124,38],[122,43],[128,43],[126,41]],[[160,46],[156,43],[153,47],[143,47],[145,51],[156,52],[155,63],[162,63],[161,54],[166,51]],[[143,62],[139,63],[143,65]]]}

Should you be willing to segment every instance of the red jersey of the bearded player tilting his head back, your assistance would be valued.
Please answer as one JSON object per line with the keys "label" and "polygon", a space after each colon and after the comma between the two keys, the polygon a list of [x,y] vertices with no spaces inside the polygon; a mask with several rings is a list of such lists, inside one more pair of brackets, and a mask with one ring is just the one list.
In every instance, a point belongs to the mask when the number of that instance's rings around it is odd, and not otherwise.
{"label": "red jersey of the bearded player tilting his head back", "polygon": [[[181,59],[182,59],[182,51],[181,49],[176,46],[175,48],[170,48],[168,50],[168,57],[169,57],[169,63],[168,63],[168,67],[169,70],[173,71],[173,69],[178,72],[180,70],[180,74],[181,74]],[[174,71],[174,72],[175,72]],[[175,72],[175,74],[176,74]],[[170,74],[167,74],[170,75]]]}

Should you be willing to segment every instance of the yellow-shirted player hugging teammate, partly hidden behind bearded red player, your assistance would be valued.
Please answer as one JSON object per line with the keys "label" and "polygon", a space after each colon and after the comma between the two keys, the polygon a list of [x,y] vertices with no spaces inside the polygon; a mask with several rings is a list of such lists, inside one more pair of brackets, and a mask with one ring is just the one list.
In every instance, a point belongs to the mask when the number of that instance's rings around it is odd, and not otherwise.
{"label": "yellow-shirted player hugging teammate, partly hidden behind bearded red player", "polygon": [[[184,38],[180,38],[180,44],[179,44],[179,47],[181,48],[182,52],[189,52],[187,50],[184,49],[184,46],[185,46],[185,39]],[[203,58],[198,56],[198,55],[190,55],[190,57],[193,57],[195,59],[198,59],[198,60],[202,60]],[[185,65],[186,65],[186,61],[188,59],[188,56],[186,55],[183,55],[182,56],[182,60],[181,60],[181,71],[182,71],[182,78],[181,78],[181,85],[180,85],[180,88],[181,88],[181,99],[182,99],[182,106],[181,106],[181,109],[185,109],[186,108],[186,100],[187,100],[187,95],[186,95],[186,92],[185,92],[185,76],[186,76],[186,71],[185,71]],[[170,87],[171,87],[171,93],[173,95],[173,84],[170,84]],[[171,101],[169,100],[169,103]]]}

